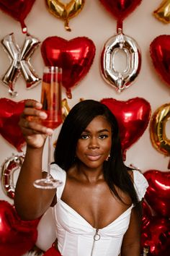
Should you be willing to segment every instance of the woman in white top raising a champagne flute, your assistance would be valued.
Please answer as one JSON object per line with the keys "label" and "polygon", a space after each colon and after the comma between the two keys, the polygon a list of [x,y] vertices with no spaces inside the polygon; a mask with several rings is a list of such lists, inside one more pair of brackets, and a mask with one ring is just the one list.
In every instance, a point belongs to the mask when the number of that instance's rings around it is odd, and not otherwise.
{"label": "woman in white top raising a champagne flute", "polygon": [[28,121],[28,116],[45,119],[41,108],[27,101],[19,122],[27,151],[14,202],[19,215],[30,220],[56,200],[58,242],[45,255],[139,256],[140,202],[148,183],[122,161],[115,116],[98,101],[76,104],[63,123],[51,165],[53,178],[61,179],[63,186],[57,191],[36,189],[32,184],[42,177],[45,138],[53,132]]}

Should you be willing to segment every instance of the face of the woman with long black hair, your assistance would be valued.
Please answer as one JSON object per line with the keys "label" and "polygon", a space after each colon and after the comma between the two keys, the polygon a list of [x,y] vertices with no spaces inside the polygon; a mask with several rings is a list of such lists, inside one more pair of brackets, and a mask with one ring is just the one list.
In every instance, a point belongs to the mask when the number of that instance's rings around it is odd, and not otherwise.
{"label": "face of the woman with long black hair", "polygon": [[76,157],[89,168],[99,168],[107,160],[111,145],[111,125],[104,116],[97,116],[82,132],[76,146]]}

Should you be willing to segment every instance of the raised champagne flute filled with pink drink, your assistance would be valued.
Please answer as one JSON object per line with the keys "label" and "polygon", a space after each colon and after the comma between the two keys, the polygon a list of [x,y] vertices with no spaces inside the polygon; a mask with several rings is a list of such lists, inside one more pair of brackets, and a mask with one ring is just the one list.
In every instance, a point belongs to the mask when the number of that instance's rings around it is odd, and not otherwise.
{"label": "raised champagne flute filled with pink drink", "polygon": [[[45,127],[55,129],[62,123],[61,113],[61,82],[62,69],[60,67],[45,67],[42,77],[41,103],[42,110],[48,115],[41,120]],[[63,182],[53,179],[50,175],[51,155],[53,151],[52,135],[48,135],[48,172],[45,179],[37,179],[34,186],[39,189],[54,189]]]}

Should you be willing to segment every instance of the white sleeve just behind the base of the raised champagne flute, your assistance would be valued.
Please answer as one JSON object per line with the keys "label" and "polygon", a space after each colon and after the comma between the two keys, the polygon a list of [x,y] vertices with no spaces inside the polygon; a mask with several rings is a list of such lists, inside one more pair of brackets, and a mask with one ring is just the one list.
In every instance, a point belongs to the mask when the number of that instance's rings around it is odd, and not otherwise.
{"label": "white sleeve just behind the base of the raised champagne flute", "polygon": [[53,163],[50,166],[50,174],[53,176],[53,179],[59,179],[63,184],[57,188],[56,196],[57,198],[61,198],[61,195],[63,194],[63,189],[66,184],[66,171],[64,171],[60,166]]}

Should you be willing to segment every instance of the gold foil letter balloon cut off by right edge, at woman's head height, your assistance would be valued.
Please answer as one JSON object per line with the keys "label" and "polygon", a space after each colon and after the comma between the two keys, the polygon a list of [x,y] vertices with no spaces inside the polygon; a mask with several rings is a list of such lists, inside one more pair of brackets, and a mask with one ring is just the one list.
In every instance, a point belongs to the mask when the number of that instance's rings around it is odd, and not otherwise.
{"label": "gold foil letter balloon cut off by right edge, at woman's head height", "polygon": [[170,139],[166,137],[166,122],[170,120],[170,103],[160,106],[150,124],[151,142],[159,152],[170,155]]}

